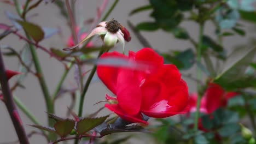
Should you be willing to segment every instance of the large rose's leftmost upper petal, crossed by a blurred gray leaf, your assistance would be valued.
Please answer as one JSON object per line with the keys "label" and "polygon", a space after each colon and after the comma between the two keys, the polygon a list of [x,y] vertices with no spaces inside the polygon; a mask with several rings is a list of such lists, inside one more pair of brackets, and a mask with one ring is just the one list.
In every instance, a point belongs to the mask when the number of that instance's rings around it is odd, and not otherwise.
{"label": "large rose's leftmost upper petal, crossed by a blurred gray leaf", "polygon": [[[104,58],[120,58],[120,59],[128,59],[127,56],[119,53],[119,52],[106,52],[100,57],[100,59]],[[97,74],[104,85],[113,92],[115,95],[117,94],[117,76],[118,76],[119,68],[113,67],[112,65],[98,65],[97,66]]]}

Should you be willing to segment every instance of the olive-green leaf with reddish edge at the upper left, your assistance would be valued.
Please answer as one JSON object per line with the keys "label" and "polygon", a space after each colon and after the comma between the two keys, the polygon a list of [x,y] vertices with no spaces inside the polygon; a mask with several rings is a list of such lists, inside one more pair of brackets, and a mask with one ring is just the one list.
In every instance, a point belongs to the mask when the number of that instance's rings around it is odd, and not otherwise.
{"label": "olive-green leaf with reddish edge at the upper left", "polygon": [[24,31],[27,32],[30,37],[38,43],[39,41],[44,39],[44,31],[41,27],[38,25],[35,25],[34,23],[26,22],[26,21],[20,21],[16,20],[23,28]]}

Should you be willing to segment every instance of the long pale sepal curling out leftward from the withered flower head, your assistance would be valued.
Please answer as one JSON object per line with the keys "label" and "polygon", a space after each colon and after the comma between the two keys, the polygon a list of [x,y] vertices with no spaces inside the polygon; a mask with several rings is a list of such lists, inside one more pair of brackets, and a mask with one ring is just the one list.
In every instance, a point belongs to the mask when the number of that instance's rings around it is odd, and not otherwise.
{"label": "long pale sepal curling out leftward from the withered flower head", "polygon": [[80,44],[83,44],[86,40],[88,40],[93,35],[95,35],[95,34],[98,34],[98,35],[106,34],[107,32],[108,32],[108,30],[105,27],[96,27],[96,28],[92,29],[91,33],[88,34],[84,39],[82,39],[77,45],[72,46],[72,47],[67,47],[63,50],[65,50],[65,51],[72,50],[75,47],[78,47]]}

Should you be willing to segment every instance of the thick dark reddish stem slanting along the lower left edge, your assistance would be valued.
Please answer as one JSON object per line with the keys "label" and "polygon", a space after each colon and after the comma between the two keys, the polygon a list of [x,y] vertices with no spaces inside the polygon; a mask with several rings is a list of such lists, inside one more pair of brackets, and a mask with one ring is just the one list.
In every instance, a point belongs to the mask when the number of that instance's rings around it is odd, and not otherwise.
{"label": "thick dark reddish stem slanting along the lower left edge", "polygon": [[5,68],[2,58],[2,52],[0,50],[0,83],[2,87],[3,97],[5,100],[5,105],[13,122],[16,134],[18,135],[20,143],[27,144],[28,139],[26,132],[24,130],[21,118],[19,116],[18,110],[13,100],[13,95],[11,95],[10,88],[8,85],[7,76],[5,75]]}

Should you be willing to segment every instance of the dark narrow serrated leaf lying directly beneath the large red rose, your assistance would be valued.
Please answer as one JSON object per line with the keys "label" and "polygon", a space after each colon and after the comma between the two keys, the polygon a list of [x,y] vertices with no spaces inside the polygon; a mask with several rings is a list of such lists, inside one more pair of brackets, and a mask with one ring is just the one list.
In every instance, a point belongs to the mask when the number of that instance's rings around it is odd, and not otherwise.
{"label": "dark narrow serrated leaf lying directly beneath the large red rose", "polygon": [[124,132],[142,132],[142,133],[151,133],[150,131],[148,131],[147,129],[139,126],[139,125],[131,125],[128,127],[124,127],[122,128],[106,128],[103,129],[100,134],[101,136],[104,135],[109,135],[109,134],[113,134],[113,133],[124,133]]}

